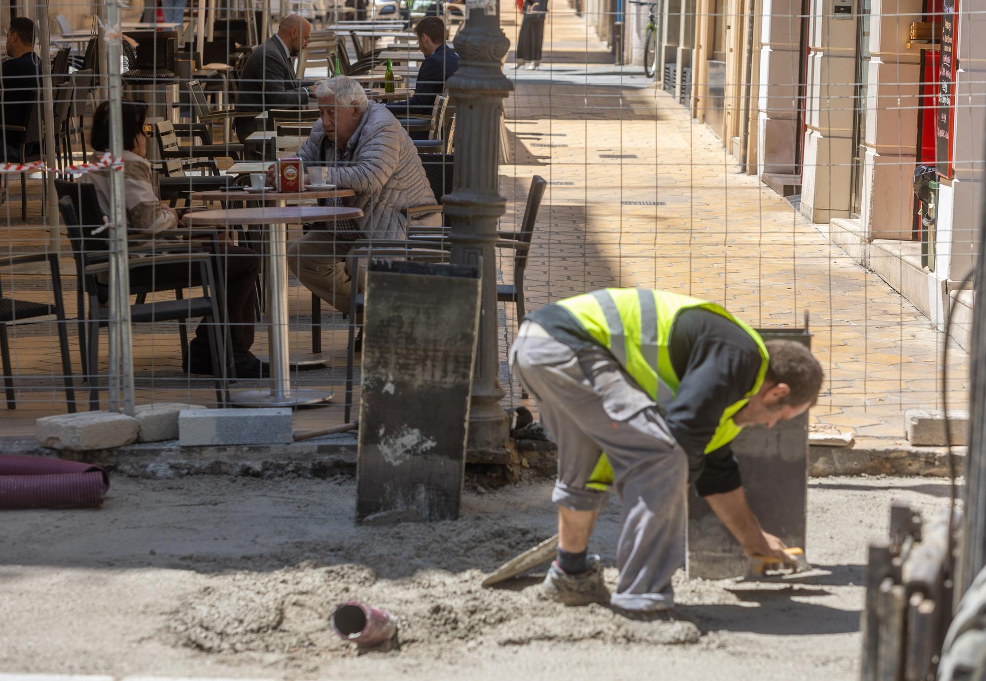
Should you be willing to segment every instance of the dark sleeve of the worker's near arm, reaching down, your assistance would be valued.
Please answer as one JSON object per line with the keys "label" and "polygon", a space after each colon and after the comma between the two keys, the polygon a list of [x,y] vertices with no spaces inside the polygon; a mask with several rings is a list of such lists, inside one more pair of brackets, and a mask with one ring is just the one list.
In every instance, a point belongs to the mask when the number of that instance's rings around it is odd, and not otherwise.
{"label": "dark sleeve of the worker's near arm, reaching down", "polygon": [[687,369],[665,420],[671,435],[688,454],[688,481],[696,483],[699,494],[729,492],[740,486],[740,468],[729,447],[708,455],[705,447],[712,441],[723,412],[753,386],[759,369],[758,353],[732,343],[705,338],[691,348]]}

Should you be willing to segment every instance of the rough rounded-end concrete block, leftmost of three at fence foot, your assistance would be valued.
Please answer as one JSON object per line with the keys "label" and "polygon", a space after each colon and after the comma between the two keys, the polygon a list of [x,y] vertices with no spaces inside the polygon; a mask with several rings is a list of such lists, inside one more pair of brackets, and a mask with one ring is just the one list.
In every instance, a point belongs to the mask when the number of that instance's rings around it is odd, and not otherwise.
{"label": "rough rounded-end concrete block, leftmost of three at fence foot", "polygon": [[54,449],[111,449],[137,441],[137,419],[125,414],[87,411],[45,416],[35,421],[35,437]]}

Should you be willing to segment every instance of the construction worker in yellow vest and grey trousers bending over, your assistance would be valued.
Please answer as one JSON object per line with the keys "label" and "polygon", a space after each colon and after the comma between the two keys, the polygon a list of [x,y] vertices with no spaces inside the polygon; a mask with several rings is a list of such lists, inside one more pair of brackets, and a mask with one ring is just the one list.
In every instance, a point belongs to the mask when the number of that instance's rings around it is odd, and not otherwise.
{"label": "construction worker in yellow vest and grey trousers bending over", "polygon": [[[764,343],[726,309],[651,289],[605,289],[528,314],[510,360],[558,444],[558,557],[542,589],[627,614],[673,606],[694,484],[747,555],[788,562],[746,503],[730,442],[814,404],[821,367],[793,341]],[[589,537],[620,496],[619,579],[609,593]]]}

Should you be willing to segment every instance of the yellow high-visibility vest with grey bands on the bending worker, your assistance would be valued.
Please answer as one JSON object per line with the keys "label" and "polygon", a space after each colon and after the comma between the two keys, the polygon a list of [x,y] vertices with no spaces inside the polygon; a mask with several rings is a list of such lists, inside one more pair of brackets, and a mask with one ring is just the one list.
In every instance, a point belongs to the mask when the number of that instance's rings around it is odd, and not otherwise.
{"label": "yellow high-visibility vest with grey bands on the bending worker", "polygon": [[[730,443],[740,433],[733,416],[757,393],[767,375],[767,347],[760,334],[725,308],[697,298],[653,289],[603,289],[576,296],[556,305],[568,309],[579,323],[605,347],[665,413],[677,391],[680,379],[674,373],[669,354],[671,327],[678,312],[690,307],[722,314],[749,334],[760,350],[760,371],[743,397],[723,412],[705,453]],[[594,476],[595,477],[595,476]]]}

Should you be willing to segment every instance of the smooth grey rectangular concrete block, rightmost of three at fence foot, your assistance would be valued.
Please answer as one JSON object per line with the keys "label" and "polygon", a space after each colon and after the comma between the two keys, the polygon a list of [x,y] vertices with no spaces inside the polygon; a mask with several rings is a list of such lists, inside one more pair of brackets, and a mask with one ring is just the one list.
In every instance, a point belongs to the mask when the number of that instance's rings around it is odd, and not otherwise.
{"label": "smooth grey rectangular concrete block, rightmost of three at fence foot", "polygon": [[290,444],[291,409],[182,409],[178,415],[181,446],[215,444]]}

